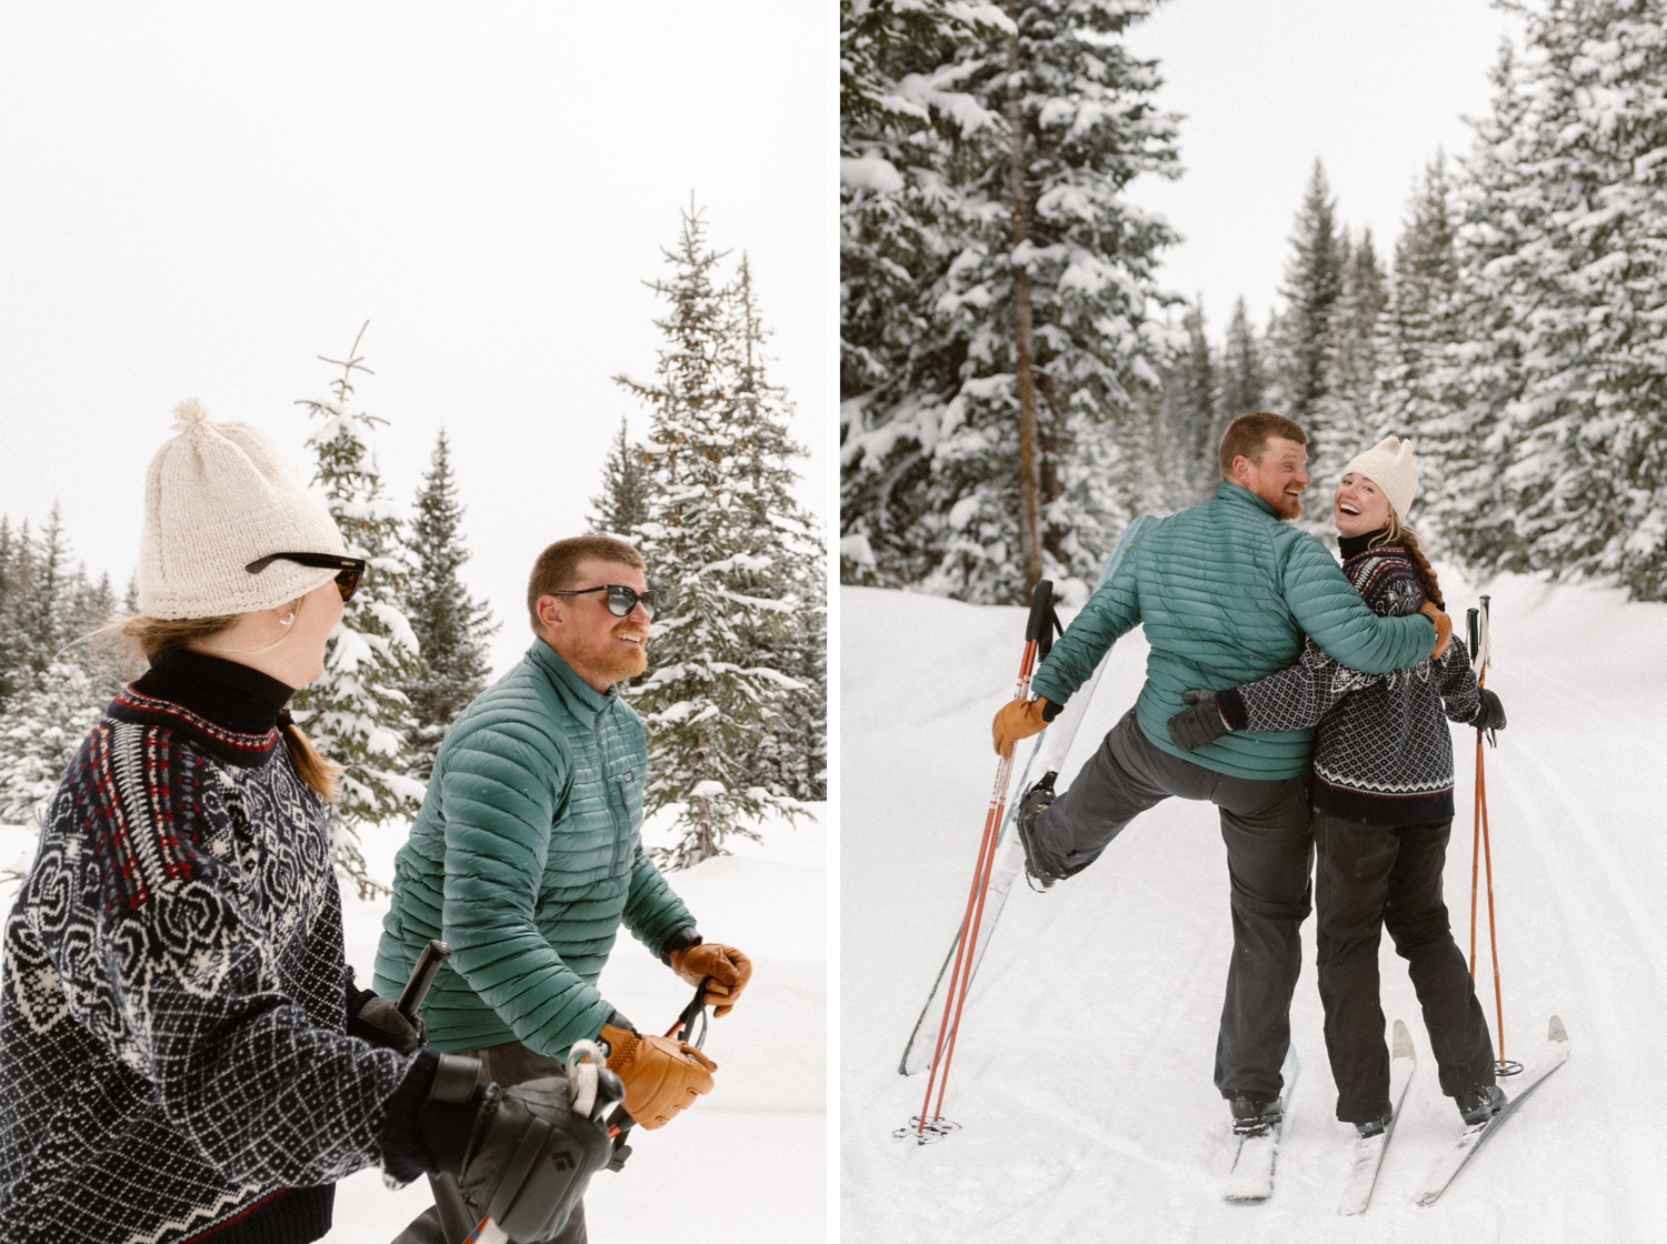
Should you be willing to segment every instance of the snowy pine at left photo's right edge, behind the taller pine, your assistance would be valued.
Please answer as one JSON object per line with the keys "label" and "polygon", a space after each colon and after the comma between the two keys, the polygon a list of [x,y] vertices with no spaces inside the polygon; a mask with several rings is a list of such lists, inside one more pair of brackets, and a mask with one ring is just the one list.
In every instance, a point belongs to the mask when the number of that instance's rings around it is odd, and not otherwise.
{"label": "snowy pine at left photo's right edge, behind the taller pine", "polygon": [[822,525],[793,495],[797,460],[805,450],[788,435],[793,403],[768,376],[763,326],[752,265],[742,253],[730,290],[728,333],[737,358],[737,480],[750,488],[753,556],[768,558],[740,590],[775,600],[752,636],[753,661],[777,669],[805,691],[762,708],[765,729],[748,761],[748,781],[802,801],[827,798],[827,543]]}

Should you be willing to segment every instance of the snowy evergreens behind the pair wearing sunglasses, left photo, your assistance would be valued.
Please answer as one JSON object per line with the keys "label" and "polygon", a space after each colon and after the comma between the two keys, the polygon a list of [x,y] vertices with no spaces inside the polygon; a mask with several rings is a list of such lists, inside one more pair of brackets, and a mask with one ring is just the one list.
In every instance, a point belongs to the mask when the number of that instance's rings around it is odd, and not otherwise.
{"label": "snowy evergreens behind the pair wearing sunglasses, left photo", "polygon": [[[673,818],[662,854],[687,866],[825,798],[827,563],[792,493],[803,450],[788,435],[793,405],[768,378],[745,258],[725,275],[693,210],[665,258],[670,275],[650,281],[665,303],[658,365],[652,380],[620,378],[648,433],[633,441],[622,423],[590,530],[637,543],[662,601],[652,664],[623,691],[648,728],[645,811]],[[332,833],[368,899],[385,886],[360,834],[415,813],[447,726],[488,683],[487,639],[503,620],[460,576],[467,510],[443,430],[410,503],[390,496],[377,438],[392,421],[357,391],[373,375],[363,338],[320,356],[322,395],[295,403],[312,485],[370,570],[330,636],[325,676],[293,711],[347,766]],[[573,533],[548,540],[562,535]],[[38,528],[0,516],[0,824],[38,823],[82,738],[143,671],[105,631],[135,611],[132,583],[118,596],[108,576],[90,580],[58,510]]]}

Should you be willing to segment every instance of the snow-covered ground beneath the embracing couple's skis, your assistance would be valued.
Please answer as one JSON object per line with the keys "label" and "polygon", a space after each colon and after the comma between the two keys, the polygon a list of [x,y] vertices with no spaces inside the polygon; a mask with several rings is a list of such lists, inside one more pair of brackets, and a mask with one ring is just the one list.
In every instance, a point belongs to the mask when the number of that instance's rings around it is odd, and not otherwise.
{"label": "snow-covered ground beneath the embracing couple's skis", "polygon": [[[1475,585],[1442,575],[1460,620]],[[1334,1117],[1312,921],[1292,1013],[1302,1074],[1275,1197],[1225,1204],[1227,1109],[1210,1082],[1230,949],[1215,813],[1169,801],[1047,894],[1020,883],[960,1026],[945,1117],[894,1141],[925,1076],[897,1061],[949,949],[1012,694],[1024,613],[842,593],[840,1212],[849,1241],[1645,1241],[1667,1222],[1667,606],[1499,578],[1489,686],[1510,726],[1489,753],[1507,1056],[1562,1016],[1570,1062],[1434,1207],[1410,1204],[1459,1116],[1440,1096],[1417,1001],[1384,948],[1384,1009],[1420,1066],[1370,1211],[1337,1217],[1352,1129]],[[1139,631],[1112,653],[1062,776],[1139,691]],[[1447,896],[1470,894],[1474,739],[1455,731],[1459,819]],[[1479,978],[1490,983],[1487,916]],[[1494,1023],[1492,989],[1484,1004]]]}

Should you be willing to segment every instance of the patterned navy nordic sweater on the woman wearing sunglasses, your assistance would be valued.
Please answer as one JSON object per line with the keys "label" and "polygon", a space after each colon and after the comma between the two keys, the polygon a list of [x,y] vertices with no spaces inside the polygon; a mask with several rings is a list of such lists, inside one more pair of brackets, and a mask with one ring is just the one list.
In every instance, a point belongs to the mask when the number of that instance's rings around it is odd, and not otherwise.
{"label": "patterned navy nordic sweater on the woman wearing sunglasses", "polygon": [[343,1036],[323,801],[278,733],[147,679],[82,743],[5,923],[0,1237],[302,1244],[335,1179],[400,1166],[380,1136],[423,1059]]}

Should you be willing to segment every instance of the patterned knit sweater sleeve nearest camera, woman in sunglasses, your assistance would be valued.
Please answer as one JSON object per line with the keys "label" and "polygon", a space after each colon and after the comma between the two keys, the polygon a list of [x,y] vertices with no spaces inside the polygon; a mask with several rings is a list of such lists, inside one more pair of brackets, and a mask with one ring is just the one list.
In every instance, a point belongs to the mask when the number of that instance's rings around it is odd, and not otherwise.
{"label": "patterned knit sweater sleeve nearest camera, woman in sunglasses", "polygon": [[98,871],[90,939],[77,924],[42,936],[53,969],[77,983],[75,1019],[153,1086],[168,1122],[228,1179],[313,1186],[373,1164],[407,1061],[318,1026],[283,993],[212,783],[187,793],[113,766],[105,779],[127,809],[132,854],[77,861],[57,841],[43,856],[60,858],[42,861]]}

